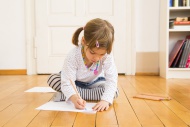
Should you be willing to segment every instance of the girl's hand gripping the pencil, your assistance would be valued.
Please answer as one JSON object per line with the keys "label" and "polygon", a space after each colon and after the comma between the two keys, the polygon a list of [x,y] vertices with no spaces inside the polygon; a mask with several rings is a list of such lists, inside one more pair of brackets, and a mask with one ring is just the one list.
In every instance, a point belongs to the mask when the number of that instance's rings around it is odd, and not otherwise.
{"label": "girl's hand gripping the pencil", "polygon": [[86,106],[86,101],[79,98],[76,94],[72,95],[70,97],[70,100],[73,102],[73,104],[75,105],[76,109],[85,109]]}

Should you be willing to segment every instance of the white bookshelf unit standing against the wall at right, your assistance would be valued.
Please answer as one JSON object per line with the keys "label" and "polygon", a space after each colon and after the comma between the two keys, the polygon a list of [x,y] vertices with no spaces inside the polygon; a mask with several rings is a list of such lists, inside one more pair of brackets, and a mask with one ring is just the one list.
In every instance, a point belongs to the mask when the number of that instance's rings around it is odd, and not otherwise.
{"label": "white bookshelf unit standing against the wall at right", "polygon": [[190,35],[190,29],[169,29],[169,19],[190,17],[190,7],[169,7],[169,0],[160,1],[160,76],[190,78],[190,68],[169,68],[169,54],[178,40]]}

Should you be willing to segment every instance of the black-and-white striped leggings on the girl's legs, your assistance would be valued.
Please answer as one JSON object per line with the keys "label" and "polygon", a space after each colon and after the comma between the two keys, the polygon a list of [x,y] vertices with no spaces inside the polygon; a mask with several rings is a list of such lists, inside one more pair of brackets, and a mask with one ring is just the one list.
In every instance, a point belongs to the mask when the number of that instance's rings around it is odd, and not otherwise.
{"label": "black-and-white striped leggings on the girl's legs", "polygon": [[[54,101],[65,101],[66,97],[61,92],[61,75],[60,73],[57,74],[51,74],[47,81],[48,85],[57,91],[57,93],[54,96]],[[95,87],[95,88],[81,88],[79,86],[76,86],[80,96],[84,100],[101,100],[101,96],[104,93],[105,88],[103,86],[101,87]],[[119,94],[119,91],[117,90],[115,93],[114,98],[117,98]]]}

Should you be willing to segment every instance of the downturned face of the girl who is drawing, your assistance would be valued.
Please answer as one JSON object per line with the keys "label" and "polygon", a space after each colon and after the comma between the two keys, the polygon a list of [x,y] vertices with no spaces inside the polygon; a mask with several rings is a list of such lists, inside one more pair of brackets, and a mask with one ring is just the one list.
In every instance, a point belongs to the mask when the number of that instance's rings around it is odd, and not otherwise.
{"label": "downturned face of the girl who is drawing", "polygon": [[88,46],[84,46],[85,56],[88,62],[96,63],[101,60],[102,57],[107,53],[106,49],[103,48],[93,48],[90,49]]}

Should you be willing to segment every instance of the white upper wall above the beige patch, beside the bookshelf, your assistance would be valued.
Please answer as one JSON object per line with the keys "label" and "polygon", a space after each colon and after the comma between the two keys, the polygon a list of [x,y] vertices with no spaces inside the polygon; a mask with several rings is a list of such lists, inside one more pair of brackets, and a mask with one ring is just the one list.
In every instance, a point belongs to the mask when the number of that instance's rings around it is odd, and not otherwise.
{"label": "white upper wall above the beige patch, beside the bookshelf", "polygon": [[134,0],[137,52],[159,51],[159,0]]}

